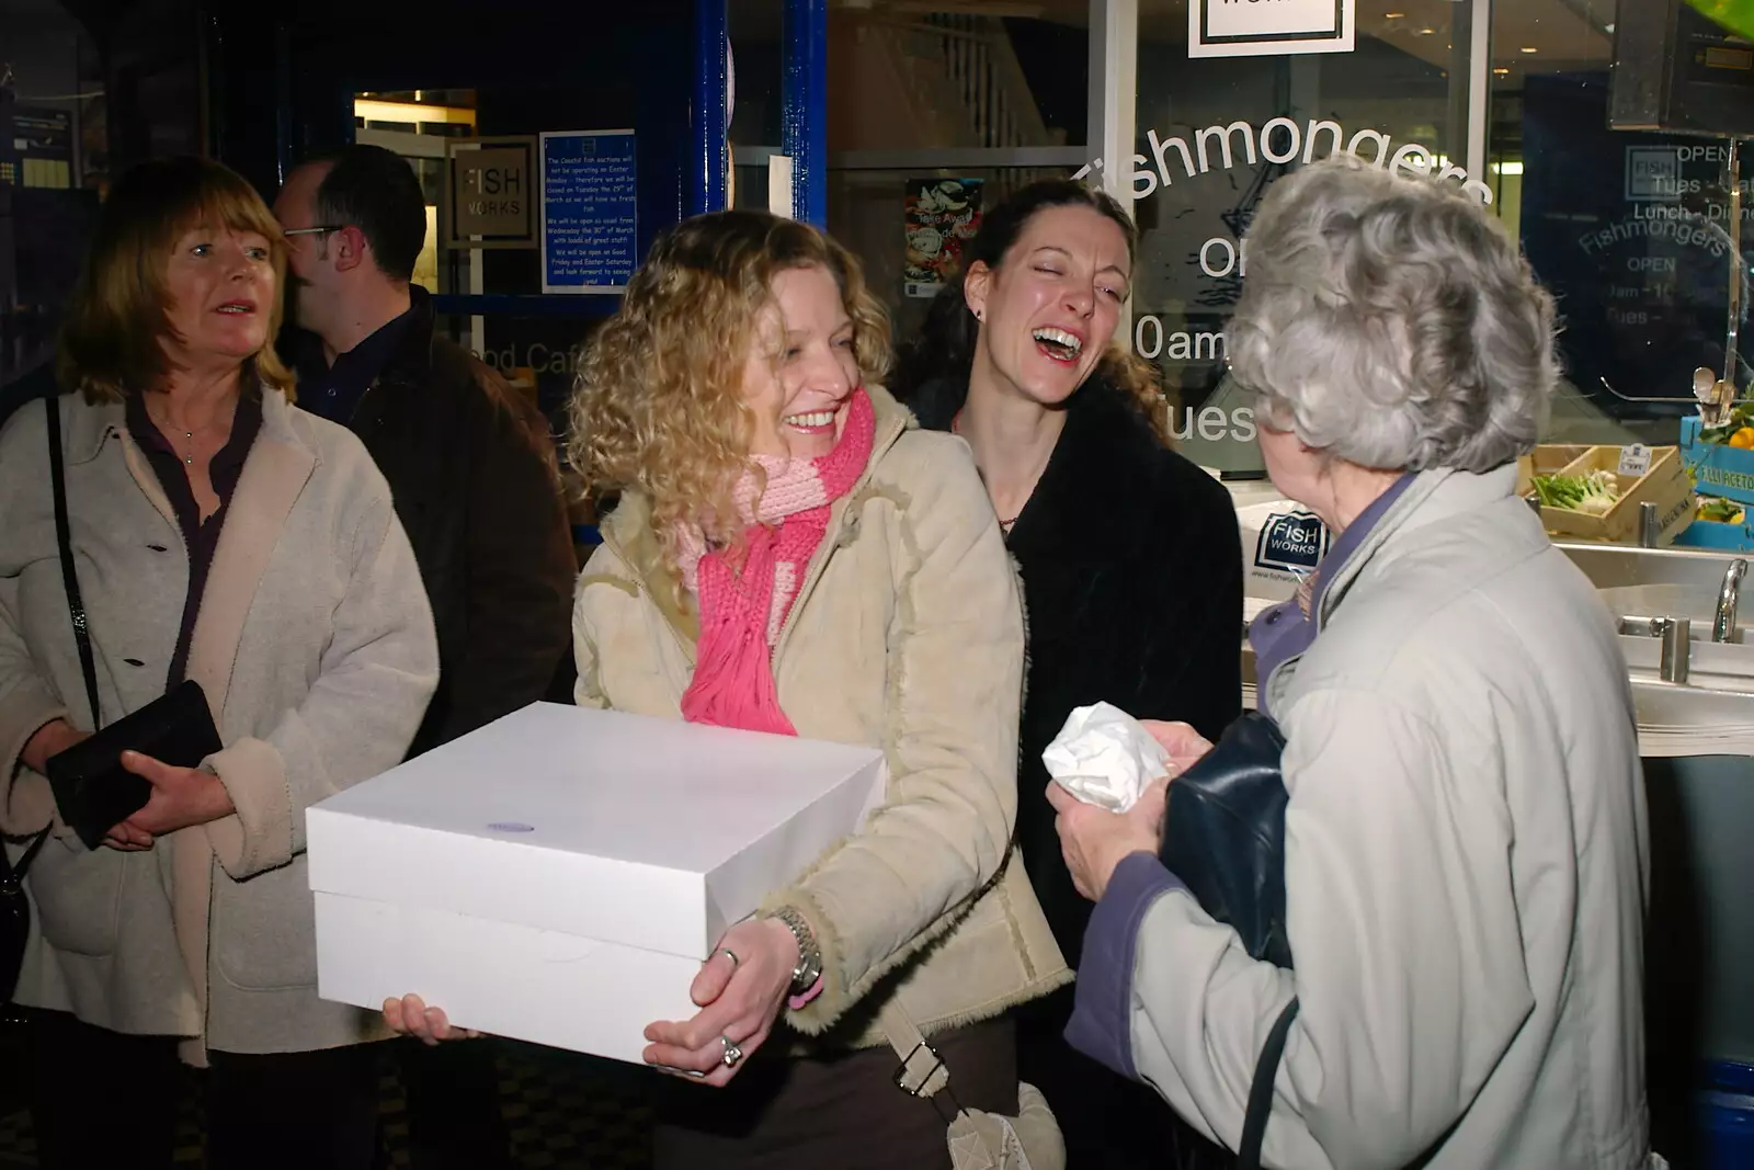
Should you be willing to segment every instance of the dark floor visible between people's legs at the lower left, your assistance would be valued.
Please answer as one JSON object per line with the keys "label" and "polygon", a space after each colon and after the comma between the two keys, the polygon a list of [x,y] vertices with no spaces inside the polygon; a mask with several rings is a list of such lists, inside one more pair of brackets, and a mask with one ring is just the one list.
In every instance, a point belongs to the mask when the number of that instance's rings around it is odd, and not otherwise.
{"label": "dark floor visible between people's legs at the lower left", "polygon": [[[512,1133],[514,1165],[531,1170],[647,1170],[651,1112],[638,1070],[588,1063],[570,1052],[496,1040],[500,1109]],[[30,1117],[19,1105],[16,1052],[0,1044],[0,1170],[35,1166]],[[177,1165],[202,1159],[198,1081],[184,1070]],[[386,1061],[381,1165],[410,1165],[402,1086]]]}

